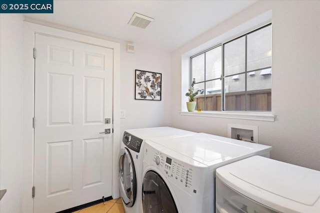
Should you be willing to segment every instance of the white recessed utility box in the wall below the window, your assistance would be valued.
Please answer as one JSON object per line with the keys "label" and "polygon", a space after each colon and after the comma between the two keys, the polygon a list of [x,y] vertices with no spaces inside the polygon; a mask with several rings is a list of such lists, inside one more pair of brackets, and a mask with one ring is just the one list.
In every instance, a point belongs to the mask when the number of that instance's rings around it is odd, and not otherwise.
{"label": "white recessed utility box in the wall below the window", "polygon": [[253,141],[258,143],[258,127],[257,126],[247,126],[240,124],[228,124],[228,137],[237,139],[239,135],[240,140],[242,141]]}

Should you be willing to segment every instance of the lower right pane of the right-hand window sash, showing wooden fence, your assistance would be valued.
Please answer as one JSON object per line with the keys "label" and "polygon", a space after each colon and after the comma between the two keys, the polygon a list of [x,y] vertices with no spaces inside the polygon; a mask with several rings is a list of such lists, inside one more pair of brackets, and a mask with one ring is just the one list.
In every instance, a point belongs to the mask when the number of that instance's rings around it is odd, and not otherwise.
{"label": "lower right pane of the right-hand window sash, showing wooden fence", "polygon": [[271,111],[271,74],[263,71],[247,75],[246,106],[249,111]]}

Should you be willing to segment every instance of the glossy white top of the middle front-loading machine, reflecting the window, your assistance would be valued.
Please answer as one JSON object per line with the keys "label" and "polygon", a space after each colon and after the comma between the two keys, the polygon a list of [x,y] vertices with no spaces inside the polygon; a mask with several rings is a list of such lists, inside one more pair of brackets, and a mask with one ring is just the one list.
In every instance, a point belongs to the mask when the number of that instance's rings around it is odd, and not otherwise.
{"label": "glossy white top of the middle front-loading machine, reflecting the window", "polygon": [[176,153],[179,153],[210,167],[210,170],[238,159],[259,155],[271,150],[270,146],[211,136],[212,138],[202,134],[194,134],[156,138],[150,139],[150,141],[171,150],[169,152],[166,149],[159,150],[167,155],[174,157]]}

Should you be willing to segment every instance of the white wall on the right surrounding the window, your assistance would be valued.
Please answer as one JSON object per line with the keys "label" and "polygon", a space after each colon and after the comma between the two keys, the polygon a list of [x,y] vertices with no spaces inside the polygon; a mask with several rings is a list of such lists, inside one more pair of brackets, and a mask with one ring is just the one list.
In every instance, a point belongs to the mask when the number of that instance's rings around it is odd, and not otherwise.
{"label": "white wall on the right surrounding the window", "polygon": [[[225,137],[227,124],[258,126],[259,143],[273,147],[272,159],[320,170],[319,7],[320,1],[258,1],[173,51],[172,126]],[[270,9],[272,113],[276,121],[180,115],[181,55]]]}

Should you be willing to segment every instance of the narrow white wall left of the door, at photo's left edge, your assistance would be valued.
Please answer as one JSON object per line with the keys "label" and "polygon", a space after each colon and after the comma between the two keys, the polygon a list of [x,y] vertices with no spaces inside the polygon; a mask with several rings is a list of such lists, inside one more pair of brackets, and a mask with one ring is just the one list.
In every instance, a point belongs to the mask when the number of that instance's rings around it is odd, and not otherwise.
{"label": "narrow white wall left of the door, at photo's left edge", "polygon": [[22,203],[23,17],[0,14],[0,201],[1,213],[19,213]]}

